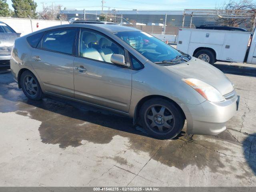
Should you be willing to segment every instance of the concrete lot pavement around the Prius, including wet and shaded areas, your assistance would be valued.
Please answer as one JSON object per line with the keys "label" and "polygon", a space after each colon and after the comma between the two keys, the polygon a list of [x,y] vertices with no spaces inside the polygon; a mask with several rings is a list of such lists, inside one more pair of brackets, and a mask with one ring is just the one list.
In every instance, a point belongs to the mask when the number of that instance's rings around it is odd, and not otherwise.
{"label": "concrete lot pavement around the Prius, including wet and shaded areas", "polygon": [[214,66],[240,95],[236,115],[217,136],[174,140],[80,103],[28,100],[0,69],[0,186],[256,186],[256,68]]}

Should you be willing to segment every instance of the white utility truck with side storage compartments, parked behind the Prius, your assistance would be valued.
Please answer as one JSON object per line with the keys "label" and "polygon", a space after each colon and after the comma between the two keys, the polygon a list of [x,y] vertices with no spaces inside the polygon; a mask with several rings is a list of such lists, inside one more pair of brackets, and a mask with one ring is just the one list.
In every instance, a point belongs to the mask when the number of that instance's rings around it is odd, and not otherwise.
{"label": "white utility truck with side storage compartments, parked behind the Prius", "polygon": [[251,32],[181,28],[177,49],[210,64],[216,61],[256,64],[256,37]]}

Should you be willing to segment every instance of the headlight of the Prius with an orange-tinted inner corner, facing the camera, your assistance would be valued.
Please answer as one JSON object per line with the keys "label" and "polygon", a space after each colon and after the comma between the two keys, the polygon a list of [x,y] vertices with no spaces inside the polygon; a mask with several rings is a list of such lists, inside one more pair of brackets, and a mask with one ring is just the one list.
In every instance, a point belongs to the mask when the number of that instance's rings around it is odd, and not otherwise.
{"label": "headlight of the Prius with an orange-tinted inner corner, facing the camera", "polygon": [[184,78],[182,80],[210,102],[221,102],[225,100],[216,88],[203,81],[193,78]]}

